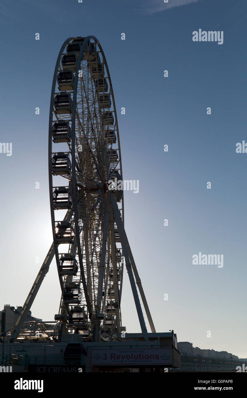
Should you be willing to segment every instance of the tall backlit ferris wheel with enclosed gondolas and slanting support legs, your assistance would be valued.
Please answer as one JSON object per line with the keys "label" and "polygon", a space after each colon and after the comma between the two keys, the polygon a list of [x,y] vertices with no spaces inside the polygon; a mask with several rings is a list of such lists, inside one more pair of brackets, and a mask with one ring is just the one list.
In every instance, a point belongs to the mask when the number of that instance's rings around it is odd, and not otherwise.
{"label": "tall backlit ferris wheel with enclosed gondolas and slanting support legs", "polygon": [[155,332],[124,230],[122,159],[112,82],[96,37],[70,37],[58,54],[50,99],[48,169],[53,243],[12,331],[55,256],[61,299],[53,339],[119,341],[123,267],[127,268],[141,330],[147,328],[139,293]]}

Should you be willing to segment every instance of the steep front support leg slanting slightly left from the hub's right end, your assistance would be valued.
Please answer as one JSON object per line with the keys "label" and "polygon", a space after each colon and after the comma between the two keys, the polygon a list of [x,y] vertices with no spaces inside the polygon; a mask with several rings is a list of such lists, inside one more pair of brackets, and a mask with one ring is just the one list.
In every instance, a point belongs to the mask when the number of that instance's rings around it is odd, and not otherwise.
{"label": "steep front support leg slanting slightly left from the hub's right end", "polygon": [[96,320],[95,320],[94,341],[98,341],[99,326],[100,326],[100,319],[98,318],[98,316],[100,315],[101,302],[102,302],[109,214],[110,214],[110,192],[108,191],[106,194],[106,205],[105,205],[103,228],[102,228],[102,247],[101,247],[101,254],[100,254],[99,271],[98,271],[98,291],[97,291],[97,301],[96,301],[96,308],[95,308]]}

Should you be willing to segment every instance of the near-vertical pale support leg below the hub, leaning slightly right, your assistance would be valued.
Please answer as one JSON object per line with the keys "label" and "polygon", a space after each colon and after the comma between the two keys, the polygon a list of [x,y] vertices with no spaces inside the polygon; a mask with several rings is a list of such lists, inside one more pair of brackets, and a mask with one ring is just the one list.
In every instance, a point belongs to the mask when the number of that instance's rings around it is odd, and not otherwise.
{"label": "near-vertical pale support leg below the hub, leaning slightly right", "polygon": [[116,304],[116,328],[118,336],[121,333],[120,327],[120,302],[119,302],[119,291],[118,291],[118,268],[116,261],[116,242],[115,242],[115,232],[114,232],[114,218],[113,218],[113,210],[112,206],[110,206],[110,219],[109,219],[109,228],[110,228],[110,240],[111,240],[111,248],[112,248],[112,270],[113,270],[113,287],[114,287],[114,301]]}

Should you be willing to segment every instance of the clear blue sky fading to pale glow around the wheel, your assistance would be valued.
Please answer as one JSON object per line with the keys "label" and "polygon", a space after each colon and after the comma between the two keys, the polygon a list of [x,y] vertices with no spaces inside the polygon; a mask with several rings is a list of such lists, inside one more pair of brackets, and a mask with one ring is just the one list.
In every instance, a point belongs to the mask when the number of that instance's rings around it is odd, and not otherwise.
{"label": "clear blue sky fading to pale glow around the wheel", "polygon": [[[246,18],[245,0],[0,1],[0,137],[12,142],[12,156],[0,153],[1,309],[23,305],[52,242],[58,52],[67,37],[95,35],[112,78],[123,178],[139,180],[138,194],[125,192],[125,229],[156,331],[247,357],[247,154],[236,153],[247,142]],[[224,43],[194,42],[199,29],[224,31]],[[223,254],[224,266],[193,265],[199,252]],[[123,325],[139,332],[127,272],[123,284]],[[32,313],[53,320],[59,302],[53,261]]]}

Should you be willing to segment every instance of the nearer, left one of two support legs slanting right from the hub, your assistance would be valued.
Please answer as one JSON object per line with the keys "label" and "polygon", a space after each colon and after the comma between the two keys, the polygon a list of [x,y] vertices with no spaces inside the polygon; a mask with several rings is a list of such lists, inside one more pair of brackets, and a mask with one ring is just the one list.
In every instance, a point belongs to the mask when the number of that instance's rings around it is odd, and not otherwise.
{"label": "nearer, left one of two support legs slanting right from the hub", "polygon": [[140,300],[139,300],[139,297],[138,297],[137,287],[135,285],[135,279],[134,279],[134,276],[133,276],[131,263],[130,263],[129,255],[128,255],[128,252],[127,252],[127,247],[126,247],[126,244],[125,244],[125,238],[124,238],[124,234],[123,234],[123,229],[122,229],[121,219],[120,219],[120,215],[119,215],[118,205],[117,205],[116,200],[115,200],[115,198],[113,197],[112,194],[111,194],[111,203],[112,203],[112,207],[113,207],[114,218],[116,220],[116,224],[117,224],[117,228],[118,228],[118,233],[119,233],[119,236],[120,236],[120,242],[121,242],[122,249],[123,249],[123,256],[125,257],[125,265],[126,265],[126,268],[127,268],[127,273],[129,275],[129,281],[130,281],[133,297],[134,297],[134,300],[135,300],[135,306],[136,306],[136,309],[137,309],[137,315],[138,315],[140,326],[141,326],[141,332],[143,334],[143,337],[144,337],[145,341],[149,341],[148,334],[147,334],[147,328],[146,328],[146,325],[145,325],[145,320],[144,320],[143,312],[142,312],[142,309],[141,309],[141,303],[140,303]]}

